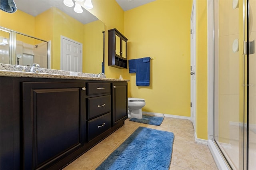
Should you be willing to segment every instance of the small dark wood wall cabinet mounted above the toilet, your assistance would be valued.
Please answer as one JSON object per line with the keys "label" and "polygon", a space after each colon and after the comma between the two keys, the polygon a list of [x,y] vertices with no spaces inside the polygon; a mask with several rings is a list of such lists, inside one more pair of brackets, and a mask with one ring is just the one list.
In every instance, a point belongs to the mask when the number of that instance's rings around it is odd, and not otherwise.
{"label": "small dark wood wall cabinet mounted above the toilet", "polygon": [[108,30],[108,65],[127,69],[127,41],[115,28]]}

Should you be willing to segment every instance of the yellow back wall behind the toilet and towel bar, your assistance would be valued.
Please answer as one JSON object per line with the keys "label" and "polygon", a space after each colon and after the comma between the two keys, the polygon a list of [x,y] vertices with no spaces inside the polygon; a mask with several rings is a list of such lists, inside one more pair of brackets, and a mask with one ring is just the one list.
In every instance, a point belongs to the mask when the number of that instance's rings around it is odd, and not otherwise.
{"label": "yellow back wall behind the toilet and towel bar", "polygon": [[128,59],[153,58],[150,86],[136,86],[135,73],[128,84],[143,111],[190,117],[191,9],[191,0],[157,0],[124,13]]}

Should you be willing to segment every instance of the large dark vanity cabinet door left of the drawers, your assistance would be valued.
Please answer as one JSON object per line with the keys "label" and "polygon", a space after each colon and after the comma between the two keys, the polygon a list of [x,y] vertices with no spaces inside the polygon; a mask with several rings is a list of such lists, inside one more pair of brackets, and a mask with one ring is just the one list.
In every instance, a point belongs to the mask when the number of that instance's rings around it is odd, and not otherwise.
{"label": "large dark vanity cabinet door left of the drawers", "polygon": [[23,168],[48,169],[84,145],[85,83],[22,85]]}

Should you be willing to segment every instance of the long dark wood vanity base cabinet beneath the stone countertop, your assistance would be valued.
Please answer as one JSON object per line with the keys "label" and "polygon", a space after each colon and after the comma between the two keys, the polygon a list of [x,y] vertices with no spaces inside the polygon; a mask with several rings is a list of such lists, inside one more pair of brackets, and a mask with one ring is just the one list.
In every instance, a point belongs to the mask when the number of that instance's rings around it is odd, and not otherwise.
{"label": "long dark wood vanity base cabinet beneath the stone countertop", "polygon": [[62,169],[126,119],[127,82],[0,77],[0,169]]}

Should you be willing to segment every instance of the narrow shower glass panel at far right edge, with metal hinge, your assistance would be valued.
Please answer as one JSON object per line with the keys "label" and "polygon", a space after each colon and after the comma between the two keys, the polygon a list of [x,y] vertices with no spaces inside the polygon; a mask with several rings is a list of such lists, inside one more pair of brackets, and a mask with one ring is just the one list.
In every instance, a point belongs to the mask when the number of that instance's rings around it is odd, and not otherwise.
{"label": "narrow shower glass panel at far right edge, with metal hinge", "polygon": [[256,40],[256,0],[247,1],[248,9],[248,27],[247,27],[247,49],[246,54],[248,58],[248,113],[246,114],[247,125],[247,160],[246,166],[248,170],[256,168],[256,53],[255,53],[255,40]]}

